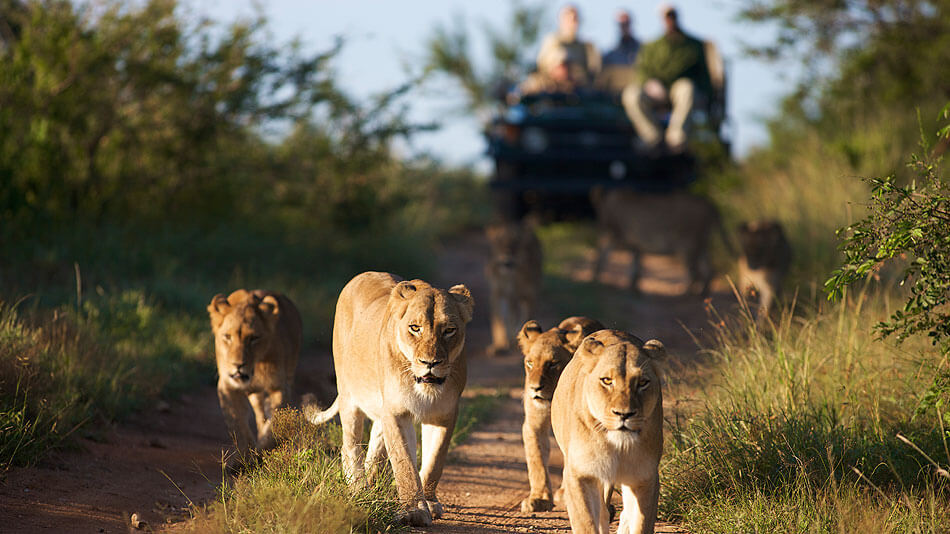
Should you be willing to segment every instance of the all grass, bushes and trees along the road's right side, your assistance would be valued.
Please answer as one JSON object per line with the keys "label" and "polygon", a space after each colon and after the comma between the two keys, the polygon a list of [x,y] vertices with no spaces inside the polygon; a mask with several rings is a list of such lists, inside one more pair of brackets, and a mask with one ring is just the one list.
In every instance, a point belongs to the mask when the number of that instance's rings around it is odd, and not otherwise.
{"label": "all grass, bushes and trees along the road's right side", "polygon": [[946,532],[950,56],[933,38],[950,4],[818,4],[743,13],[779,25],[757,52],[804,58],[806,78],[710,193],[735,221],[783,223],[794,298],[765,323],[711,315],[714,372],[671,418],[662,514],[692,532]]}

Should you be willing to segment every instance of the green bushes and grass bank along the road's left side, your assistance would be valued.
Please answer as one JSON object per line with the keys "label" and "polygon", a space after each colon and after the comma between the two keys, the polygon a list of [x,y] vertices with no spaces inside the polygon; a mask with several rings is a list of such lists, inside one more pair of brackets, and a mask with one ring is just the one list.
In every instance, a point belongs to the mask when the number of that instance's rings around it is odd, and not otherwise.
{"label": "green bushes and grass bank along the road's left side", "polygon": [[325,346],[353,273],[431,276],[483,216],[472,173],[392,152],[431,127],[410,86],[336,86],[342,42],[171,0],[0,5],[0,472],[213,383],[214,294],[286,293]]}

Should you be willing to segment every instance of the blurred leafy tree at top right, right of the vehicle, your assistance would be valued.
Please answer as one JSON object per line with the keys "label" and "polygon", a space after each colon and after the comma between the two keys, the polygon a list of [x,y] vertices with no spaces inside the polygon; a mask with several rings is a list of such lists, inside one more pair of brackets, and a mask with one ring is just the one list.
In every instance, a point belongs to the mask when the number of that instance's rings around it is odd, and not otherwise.
{"label": "blurred leafy tree at top right, right of the vehicle", "polygon": [[858,173],[897,172],[916,110],[933,131],[950,98],[950,0],[754,0],[740,17],[777,27],[753,54],[804,72],[769,124],[779,153],[817,133]]}

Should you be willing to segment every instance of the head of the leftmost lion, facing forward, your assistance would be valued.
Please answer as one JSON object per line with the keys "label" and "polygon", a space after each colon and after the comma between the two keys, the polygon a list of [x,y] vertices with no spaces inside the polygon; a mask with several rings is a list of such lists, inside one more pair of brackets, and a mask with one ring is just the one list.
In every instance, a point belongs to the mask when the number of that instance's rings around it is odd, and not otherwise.
{"label": "head of the leftmost lion, facing forward", "polygon": [[259,356],[268,351],[274,337],[280,313],[277,299],[240,289],[228,298],[215,295],[208,313],[218,373],[235,388],[248,387]]}

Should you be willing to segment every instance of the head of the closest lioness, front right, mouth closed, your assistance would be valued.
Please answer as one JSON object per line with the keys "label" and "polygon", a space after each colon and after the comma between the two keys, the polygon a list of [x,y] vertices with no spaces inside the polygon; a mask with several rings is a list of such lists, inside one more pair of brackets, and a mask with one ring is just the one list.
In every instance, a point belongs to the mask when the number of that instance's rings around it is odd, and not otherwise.
{"label": "head of the closest lioness, front right, mouth closed", "polygon": [[654,362],[666,354],[663,344],[640,341],[623,332],[602,330],[584,339],[575,357],[588,363],[583,396],[586,408],[618,446],[635,443],[656,410],[662,409]]}

